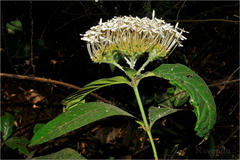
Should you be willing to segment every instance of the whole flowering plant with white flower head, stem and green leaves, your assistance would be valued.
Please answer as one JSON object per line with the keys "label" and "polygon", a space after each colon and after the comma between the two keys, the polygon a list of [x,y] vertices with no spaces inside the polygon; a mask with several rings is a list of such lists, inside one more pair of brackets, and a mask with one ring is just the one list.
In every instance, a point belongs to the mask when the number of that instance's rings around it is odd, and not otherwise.
{"label": "whole flowering plant with white flower head, stem and green leaves", "polygon": [[[194,130],[199,137],[206,140],[216,121],[216,106],[210,90],[201,77],[181,64],[162,64],[153,71],[142,73],[153,60],[167,58],[177,46],[182,47],[181,42],[186,39],[182,35],[184,32],[186,31],[178,28],[178,23],[172,26],[155,18],[154,11],[152,19],[124,16],[114,17],[107,22],[100,20],[97,26],[82,35],[82,40],[87,41],[90,58],[95,63],[115,65],[124,71],[128,79],[123,76],[99,79],[67,97],[63,101],[66,111],[40,128],[34,134],[30,145],[47,142],[102,118],[121,115],[134,118],[142,126],[149,137],[154,158],[158,159],[158,149],[153,141],[151,128],[162,117],[181,111],[179,107],[187,100],[193,105],[193,112],[197,117]],[[147,60],[135,70],[136,61],[145,53],[148,54]],[[120,59],[124,59],[129,68],[120,65],[118,63]],[[176,87],[175,92],[178,96],[175,102],[173,101],[173,106],[149,107],[147,119],[138,84],[142,79],[151,76],[169,80]],[[116,84],[127,84],[133,89],[142,120],[113,105],[85,103],[84,98],[91,92]]]}

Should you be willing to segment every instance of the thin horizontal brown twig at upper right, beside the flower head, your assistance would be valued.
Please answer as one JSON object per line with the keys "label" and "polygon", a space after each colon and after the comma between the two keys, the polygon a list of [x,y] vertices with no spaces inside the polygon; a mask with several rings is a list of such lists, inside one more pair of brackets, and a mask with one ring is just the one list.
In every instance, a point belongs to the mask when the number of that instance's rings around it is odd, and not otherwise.
{"label": "thin horizontal brown twig at upper right, beside the flower head", "polygon": [[228,23],[239,23],[240,21],[234,21],[229,19],[180,19],[180,20],[166,20],[167,22],[186,22],[186,23],[194,23],[194,22],[228,22]]}

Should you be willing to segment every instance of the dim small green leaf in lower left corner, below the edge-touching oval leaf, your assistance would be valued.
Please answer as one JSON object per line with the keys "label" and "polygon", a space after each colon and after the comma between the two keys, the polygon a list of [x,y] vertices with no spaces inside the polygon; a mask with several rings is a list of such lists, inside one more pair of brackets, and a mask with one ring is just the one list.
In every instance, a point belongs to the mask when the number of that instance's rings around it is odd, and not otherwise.
{"label": "dim small green leaf in lower left corner, below the edge-touching oval leaf", "polygon": [[18,149],[19,152],[28,155],[29,151],[26,145],[29,141],[24,137],[11,137],[6,141],[6,145],[11,149]]}

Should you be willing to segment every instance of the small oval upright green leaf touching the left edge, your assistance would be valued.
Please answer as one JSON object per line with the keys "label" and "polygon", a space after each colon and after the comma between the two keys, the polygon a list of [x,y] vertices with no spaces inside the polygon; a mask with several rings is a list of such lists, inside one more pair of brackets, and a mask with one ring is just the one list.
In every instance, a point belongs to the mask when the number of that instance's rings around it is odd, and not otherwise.
{"label": "small oval upright green leaf touching the left edge", "polygon": [[13,129],[14,118],[10,113],[5,112],[1,116],[1,132],[3,140],[6,140],[11,134]]}

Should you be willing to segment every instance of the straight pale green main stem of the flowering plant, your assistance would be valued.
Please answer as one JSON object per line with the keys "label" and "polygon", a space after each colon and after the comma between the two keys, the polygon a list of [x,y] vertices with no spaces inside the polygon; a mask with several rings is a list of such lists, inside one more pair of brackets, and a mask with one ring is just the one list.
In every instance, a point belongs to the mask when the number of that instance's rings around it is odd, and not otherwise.
{"label": "straight pale green main stem of the flowering plant", "polygon": [[145,130],[146,130],[146,132],[148,134],[149,140],[150,140],[151,145],[152,145],[154,158],[156,160],[158,160],[157,150],[156,150],[156,147],[155,147],[155,144],[154,144],[154,141],[153,141],[151,129],[149,127],[149,124],[148,124],[148,121],[147,121],[147,117],[146,117],[146,114],[144,112],[144,108],[143,108],[142,101],[141,101],[141,98],[140,98],[140,95],[139,95],[138,88],[137,88],[136,84],[134,84],[133,90],[134,90],[135,96],[137,98],[137,102],[138,102],[138,106],[139,106],[139,109],[140,109],[140,112],[141,112],[141,115],[142,115],[142,118],[143,118]]}

